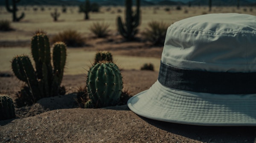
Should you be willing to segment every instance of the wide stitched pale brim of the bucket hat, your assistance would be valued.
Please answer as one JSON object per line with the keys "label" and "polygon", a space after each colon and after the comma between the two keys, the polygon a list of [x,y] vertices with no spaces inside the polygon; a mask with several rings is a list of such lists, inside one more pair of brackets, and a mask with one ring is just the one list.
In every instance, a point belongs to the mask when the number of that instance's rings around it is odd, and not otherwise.
{"label": "wide stitched pale brim of the bucket hat", "polygon": [[218,95],[165,87],[156,81],[128,107],[146,118],[201,126],[256,126],[256,94]]}

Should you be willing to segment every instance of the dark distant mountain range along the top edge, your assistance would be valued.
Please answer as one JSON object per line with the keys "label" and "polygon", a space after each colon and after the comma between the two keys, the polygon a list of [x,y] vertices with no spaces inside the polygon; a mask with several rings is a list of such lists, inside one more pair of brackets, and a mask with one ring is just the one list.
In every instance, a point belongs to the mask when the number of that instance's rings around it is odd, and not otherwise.
{"label": "dark distant mountain range along the top edge", "polygon": [[[85,0],[20,0],[18,5],[80,5]],[[101,6],[124,6],[125,0],[90,0],[91,3],[99,3]],[[153,5],[187,5],[192,6],[208,5],[208,0],[140,0],[141,6]],[[5,5],[4,0],[0,0],[0,5]],[[237,0],[212,0],[213,6],[236,6]],[[240,0],[240,6],[256,6],[255,0]]]}

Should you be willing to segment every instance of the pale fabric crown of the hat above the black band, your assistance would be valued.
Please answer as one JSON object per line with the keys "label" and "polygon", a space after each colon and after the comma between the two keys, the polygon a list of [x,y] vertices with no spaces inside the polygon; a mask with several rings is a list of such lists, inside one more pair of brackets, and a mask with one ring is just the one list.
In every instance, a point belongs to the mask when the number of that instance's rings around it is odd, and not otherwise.
{"label": "pale fabric crown of the hat above the black band", "polygon": [[256,72],[256,17],[206,14],[169,26],[162,62],[212,72]]}

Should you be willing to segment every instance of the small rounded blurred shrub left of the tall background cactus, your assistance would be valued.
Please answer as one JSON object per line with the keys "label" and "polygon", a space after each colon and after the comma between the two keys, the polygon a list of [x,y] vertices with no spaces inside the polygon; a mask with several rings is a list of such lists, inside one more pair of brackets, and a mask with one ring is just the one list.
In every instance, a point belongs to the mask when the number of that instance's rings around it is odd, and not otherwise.
{"label": "small rounded blurred shrub left of the tall background cactus", "polygon": [[94,22],[93,25],[90,26],[89,30],[96,35],[98,38],[106,37],[109,34],[109,24],[106,24],[104,22]]}

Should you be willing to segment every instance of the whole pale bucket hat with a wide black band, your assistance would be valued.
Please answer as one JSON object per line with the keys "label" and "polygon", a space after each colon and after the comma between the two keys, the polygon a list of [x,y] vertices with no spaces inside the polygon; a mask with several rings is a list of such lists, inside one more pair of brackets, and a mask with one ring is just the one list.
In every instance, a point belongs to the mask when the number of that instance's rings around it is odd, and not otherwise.
{"label": "whole pale bucket hat with a wide black band", "polygon": [[206,14],[169,26],[158,80],[128,107],[158,121],[256,126],[256,17]]}

